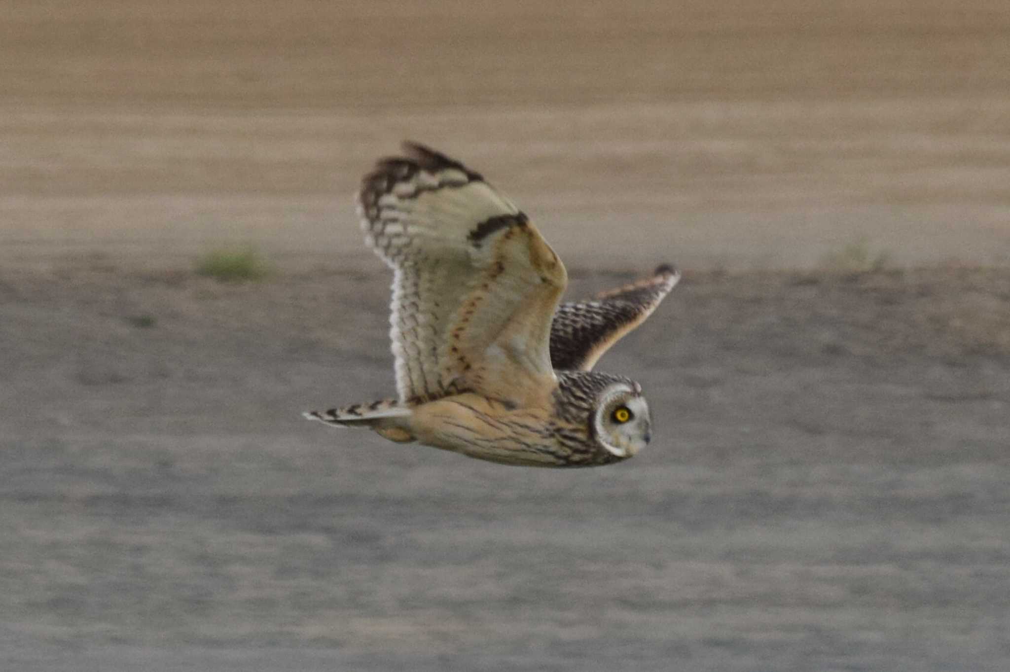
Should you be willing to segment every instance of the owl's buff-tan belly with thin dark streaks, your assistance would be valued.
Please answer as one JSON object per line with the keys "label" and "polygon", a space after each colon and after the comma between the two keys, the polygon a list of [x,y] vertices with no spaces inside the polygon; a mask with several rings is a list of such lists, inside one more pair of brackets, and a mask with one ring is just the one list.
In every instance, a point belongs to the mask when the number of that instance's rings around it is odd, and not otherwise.
{"label": "owl's buff-tan belly with thin dark streaks", "polygon": [[477,459],[524,466],[563,466],[566,451],[539,409],[511,409],[478,395],[415,407],[410,429],[419,443]]}

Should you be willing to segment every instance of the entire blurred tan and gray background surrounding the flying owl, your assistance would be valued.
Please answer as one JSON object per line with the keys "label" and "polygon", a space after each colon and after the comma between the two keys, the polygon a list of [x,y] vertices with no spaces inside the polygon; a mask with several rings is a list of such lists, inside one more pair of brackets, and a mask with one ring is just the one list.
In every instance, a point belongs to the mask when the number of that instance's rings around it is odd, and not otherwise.
{"label": "entire blurred tan and gray background surrounding the flying owl", "polygon": [[[301,420],[404,138],[685,270],[647,451]],[[1008,212],[1006,0],[0,0],[0,669],[1006,670]]]}

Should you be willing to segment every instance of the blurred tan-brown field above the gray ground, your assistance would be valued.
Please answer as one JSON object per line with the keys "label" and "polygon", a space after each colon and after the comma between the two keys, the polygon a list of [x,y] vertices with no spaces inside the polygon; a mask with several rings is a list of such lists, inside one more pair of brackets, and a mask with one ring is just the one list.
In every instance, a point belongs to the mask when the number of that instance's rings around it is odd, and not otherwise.
{"label": "blurred tan-brown field above the gray ground", "polygon": [[1010,258],[1003,0],[11,0],[0,30],[5,263],[357,256],[405,138],[576,263]]}

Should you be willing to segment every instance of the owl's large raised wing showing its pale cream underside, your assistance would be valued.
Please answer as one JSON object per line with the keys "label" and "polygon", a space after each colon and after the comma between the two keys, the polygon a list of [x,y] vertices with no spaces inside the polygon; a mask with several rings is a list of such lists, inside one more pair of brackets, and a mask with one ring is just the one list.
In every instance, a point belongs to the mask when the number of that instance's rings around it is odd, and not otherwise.
{"label": "owl's large raised wing showing its pale cream underside", "polygon": [[565,265],[479,174],[423,145],[380,160],[359,195],[369,245],[393,268],[401,404],[473,390],[521,404],[553,381],[548,335]]}

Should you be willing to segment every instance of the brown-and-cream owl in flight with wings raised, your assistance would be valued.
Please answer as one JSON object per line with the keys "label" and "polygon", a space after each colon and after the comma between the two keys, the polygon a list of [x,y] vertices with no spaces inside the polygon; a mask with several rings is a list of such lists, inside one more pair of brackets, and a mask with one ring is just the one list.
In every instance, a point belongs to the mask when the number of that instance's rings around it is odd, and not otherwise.
{"label": "brown-and-cream owl in flight with wings raised", "polygon": [[568,275],[526,215],[463,163],[420,144],[359,193],[369,246],[393,268],[397,399],[304,414],[483,460],[576,467],[651,438],[641,386],[593,371],[680,274],[565,303]]}

